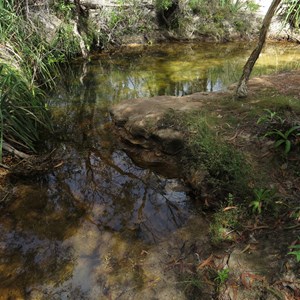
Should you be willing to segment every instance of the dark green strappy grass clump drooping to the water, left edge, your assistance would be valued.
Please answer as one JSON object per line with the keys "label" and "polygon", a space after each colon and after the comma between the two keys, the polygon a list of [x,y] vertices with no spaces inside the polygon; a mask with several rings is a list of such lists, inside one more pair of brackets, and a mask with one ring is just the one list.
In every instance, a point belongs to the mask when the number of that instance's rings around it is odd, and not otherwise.
{"label": "dark green strappy grass clump drooping to the water, left edge", "polygon": [[50,129],[51,121],[38,91],[7,65],[0,66],[0,121],[3,140],[35,151],[40,129]]}

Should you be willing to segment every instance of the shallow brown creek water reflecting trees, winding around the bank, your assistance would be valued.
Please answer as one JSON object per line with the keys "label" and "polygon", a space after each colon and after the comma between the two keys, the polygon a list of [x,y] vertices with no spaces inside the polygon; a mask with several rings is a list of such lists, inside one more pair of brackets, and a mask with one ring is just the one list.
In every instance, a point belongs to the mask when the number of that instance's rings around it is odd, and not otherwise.
{"label": "shallow brown creek water reflecting trees, winding around the bank", "polygon": [[[185,299],[165,266],[187,240],[207,237],[207,221],[179,180],[133,164],[108,111],[129,98],[226,89],[250,52],[169,44],[66,67],[48,99],[59,165],[18,181],[1,209],[0,299]],[[299,45],[269,44],[254,73],[299,62]]]}

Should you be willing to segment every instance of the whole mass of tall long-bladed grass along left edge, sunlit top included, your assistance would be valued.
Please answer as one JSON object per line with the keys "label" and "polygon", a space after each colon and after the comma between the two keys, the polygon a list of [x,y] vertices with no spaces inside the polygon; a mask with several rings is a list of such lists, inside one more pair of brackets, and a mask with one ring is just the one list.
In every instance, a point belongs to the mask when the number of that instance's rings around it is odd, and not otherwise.
{"label": "whole mass of tall long-bladed grass along left edge, sunlit top included", "polygon": [[42,87],[52,87],[60,57],[18,1],[0,0],[0,160],[3,141],[35,152],[51,129]]}

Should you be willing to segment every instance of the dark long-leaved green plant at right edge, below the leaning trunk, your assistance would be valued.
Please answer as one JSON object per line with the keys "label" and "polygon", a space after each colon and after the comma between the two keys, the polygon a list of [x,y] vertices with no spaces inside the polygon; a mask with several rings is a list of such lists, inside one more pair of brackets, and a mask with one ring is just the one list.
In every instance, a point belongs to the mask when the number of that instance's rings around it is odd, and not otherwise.
{"label": "dark long-leaved green plant at right edge, below the leaning trunk", "polygon": [[[300,136],[300,132],[297,132],[297,130],[300,129],[300,126],[293,126],[286,130],[285,132],[282,132],[278,129],[269,131],[265,134],[265,136],[273,136],[276,139],[276,142],[274,144],[275,148],[280,147],[281,145],[284,146],[284,153],[288,154],[291,151],[292,148],[292,137]],[[297,133],[295,133],[297,132]]]}

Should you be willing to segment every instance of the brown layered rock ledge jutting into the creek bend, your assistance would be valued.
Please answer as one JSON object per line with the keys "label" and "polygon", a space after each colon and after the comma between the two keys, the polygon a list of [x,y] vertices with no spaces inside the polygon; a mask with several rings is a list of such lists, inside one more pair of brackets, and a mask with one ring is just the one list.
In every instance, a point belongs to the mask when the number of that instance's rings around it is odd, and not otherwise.
{"label": "brown layered rock ledge jutting into the creek bend", "polygon": [[185,145],[185,133],[170,127],[166,116],[172,111],[201,110],[205,100],[217,95],[157,96],[115,105],[111,115],[123,149],[140,165],[154,167],[168,177],[180,177],[178,158]]}

